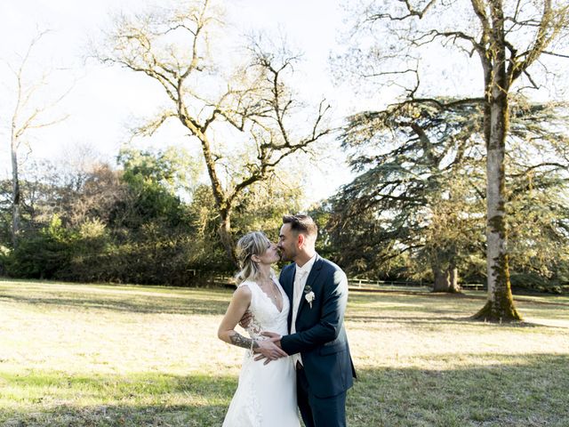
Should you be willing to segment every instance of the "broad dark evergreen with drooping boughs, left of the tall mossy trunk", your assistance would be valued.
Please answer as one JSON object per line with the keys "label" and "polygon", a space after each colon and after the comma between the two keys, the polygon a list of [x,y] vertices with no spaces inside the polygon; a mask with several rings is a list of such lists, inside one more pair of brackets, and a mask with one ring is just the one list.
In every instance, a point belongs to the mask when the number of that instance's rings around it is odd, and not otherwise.
{"label": "broad dark evergreen with drooping boughs, left of the tall mossy trunk", "polygon": [[436,290],[459,290],[459,266],[482,245],[480,118],[479,101],[443,99],[350,117],[341,139],[362,173],[333,200],[342,262],[365,270],[407,253],[407,275],[429,265]]}

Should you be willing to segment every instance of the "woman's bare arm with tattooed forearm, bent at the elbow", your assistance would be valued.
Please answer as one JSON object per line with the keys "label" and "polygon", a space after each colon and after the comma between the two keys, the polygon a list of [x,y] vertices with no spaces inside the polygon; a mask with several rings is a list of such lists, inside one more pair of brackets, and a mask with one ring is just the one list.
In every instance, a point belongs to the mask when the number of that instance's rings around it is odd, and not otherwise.
{"label": "woman's bare arm with tattooed forearm, bent at the elbow", "polygon": [[231,302],[229,302],[225,316],[221,320],[220,327],[217,331],[218,338],[220,338],[221,341],[228,342],[237,347],[260,352],[269,360],[288,356],[284,350],[276,347],[271,339],[257,342],[236,332],[235,326],[243,317],[244,312],[249,308],[250,303],[251,290],[247,286],[238,287],[233,294],[233,298],[231,298]]}

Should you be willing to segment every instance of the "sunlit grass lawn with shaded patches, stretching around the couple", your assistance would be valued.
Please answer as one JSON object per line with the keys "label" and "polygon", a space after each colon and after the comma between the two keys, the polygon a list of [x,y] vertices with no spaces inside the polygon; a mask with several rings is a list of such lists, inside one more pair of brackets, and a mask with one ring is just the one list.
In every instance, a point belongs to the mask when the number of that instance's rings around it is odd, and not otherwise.
{"label": "sunlit grass lawn with shaded patches, stretching around the couple", "polygon": [[[0,425],[220,426],[243,350],[230,290],[0,280]],[[352,292],[349,426],[569,425],[569,298]]]}

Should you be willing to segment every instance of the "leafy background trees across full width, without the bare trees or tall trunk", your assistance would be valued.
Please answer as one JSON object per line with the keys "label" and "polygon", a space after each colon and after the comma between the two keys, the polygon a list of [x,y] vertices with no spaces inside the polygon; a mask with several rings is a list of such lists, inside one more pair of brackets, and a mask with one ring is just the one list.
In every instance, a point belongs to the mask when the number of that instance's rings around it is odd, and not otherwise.
{"label": "leafy background trees across full width, without the bare trees or tall trunk", "polygon": [[[351,277],[421,280],[444,292],[460,291],[461,282],[485,282],[481,117],[476,102],[455,102],[421,101],[350,117],[341,139],[361,173],[310,214],[321,229],[319,252]],[[557,142],[566,110],[525,104],[513,116],[512,282],[554,291],[569,281],[568,178],[558,163],[563,153],[557,163],[536,153],[564,147]],[[429,157],[422,155],[425,143]],[[2,182],[4,274],[191,285],[235,270],[196,157],[175,148],[123,149],[116,165],[100,163],[89,150],[76,156],[24,169],[16,247],[12,183]],[[244,192],[236,203],[235,236],[266,230],[276,238],[282,215],[301,210],[301,185],[284,176]]]}

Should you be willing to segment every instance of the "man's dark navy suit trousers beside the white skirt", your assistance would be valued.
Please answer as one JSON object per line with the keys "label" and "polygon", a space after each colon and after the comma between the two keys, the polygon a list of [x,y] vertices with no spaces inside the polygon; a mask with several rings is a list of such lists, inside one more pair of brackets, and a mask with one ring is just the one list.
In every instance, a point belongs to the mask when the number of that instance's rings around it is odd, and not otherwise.
{"label": "man's dark navy suit trousers beside the white skirt", "polygon": [[304,369],[296,371],[296,392],[306,427],[346,427],[346,392],[332,398],[317,398],[310,392]]}

